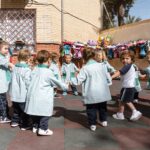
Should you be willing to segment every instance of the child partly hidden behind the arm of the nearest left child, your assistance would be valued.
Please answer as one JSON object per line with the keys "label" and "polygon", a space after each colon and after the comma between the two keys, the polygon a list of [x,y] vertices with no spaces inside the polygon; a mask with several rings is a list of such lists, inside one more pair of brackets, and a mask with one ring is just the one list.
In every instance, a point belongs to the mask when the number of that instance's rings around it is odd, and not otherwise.
{"label": "child partly hidden behind the arm of the nearest left child", "polygon": [[[56,79],[61,80],[60,70],[58,66],[59,56],[57,53],[52,52],[51,57],[52,57],[52,62],[50,65],[50,69],[54,73],[54,76],[56,77]],[[59,95],[57,94],[57,88],[54,88],[54,96],[57,98],[59,97]]]}

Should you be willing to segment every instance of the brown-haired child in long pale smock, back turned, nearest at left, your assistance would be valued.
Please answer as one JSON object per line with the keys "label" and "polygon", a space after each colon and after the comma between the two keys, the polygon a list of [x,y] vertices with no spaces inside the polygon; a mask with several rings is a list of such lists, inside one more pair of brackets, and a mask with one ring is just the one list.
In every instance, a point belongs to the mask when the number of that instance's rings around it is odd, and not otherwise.
{"label": "brown-haired child in long pale smock, back turned, nearest at left", "polygon": [[25,112],[32,115],[33,133],[38,135],[52,135],[53,131],[48,129],[48,121],[53,114],[54,90],[56,85],[66,90],[68,85],[57,80],[49,69],[50,53],[41,50],[37,53],[37,67],[31,74],[31,82],[27,92]]}

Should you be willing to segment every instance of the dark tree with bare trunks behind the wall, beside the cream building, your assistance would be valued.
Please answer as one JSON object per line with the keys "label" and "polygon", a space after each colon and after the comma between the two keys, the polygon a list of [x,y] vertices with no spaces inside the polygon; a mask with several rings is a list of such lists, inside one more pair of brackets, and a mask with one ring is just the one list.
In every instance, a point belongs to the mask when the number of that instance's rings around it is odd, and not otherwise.
{"label": "dark tree with bare trunks behind the wall, beside the cream building", "polygon": [[[115,17],[117,17],[118,26],[124,24],[124,17],[129,14],[130,8],[133,6],[135,0],[103,0],[107,8],[109,16],[113,23],[115,23]],[[103,13],[104,29],[110,27],[110,22],[106,14],[106,10]]]}

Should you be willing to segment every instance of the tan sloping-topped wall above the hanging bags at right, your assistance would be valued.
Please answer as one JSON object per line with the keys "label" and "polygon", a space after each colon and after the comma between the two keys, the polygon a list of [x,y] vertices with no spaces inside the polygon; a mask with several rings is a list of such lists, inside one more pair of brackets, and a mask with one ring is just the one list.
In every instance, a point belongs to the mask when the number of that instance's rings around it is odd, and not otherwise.
{"label": "tan sloping-topped wall above the hanging bags at right", "polygon": [[112,36],[113,43],[124,43],[138,39],[150,40],[150,20],[105,30],[100,33],[100,36],[108,34]]}

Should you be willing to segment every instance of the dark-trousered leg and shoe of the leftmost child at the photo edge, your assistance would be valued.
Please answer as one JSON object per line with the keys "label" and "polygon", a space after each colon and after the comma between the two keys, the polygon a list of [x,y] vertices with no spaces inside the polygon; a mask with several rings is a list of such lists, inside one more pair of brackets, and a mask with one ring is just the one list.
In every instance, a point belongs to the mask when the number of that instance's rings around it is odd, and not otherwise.
{"label": "dark-trousered leg and shoe of the leftmost child at the photo edge", "polygon": [[7,97],[6,93],[0,94],[0,115],[2,117],[1,123],[8,123],[11,122],[8,117],[8,110],[7,110]]}

